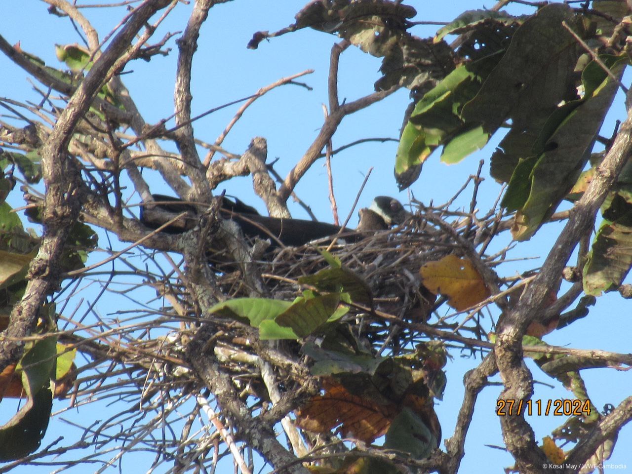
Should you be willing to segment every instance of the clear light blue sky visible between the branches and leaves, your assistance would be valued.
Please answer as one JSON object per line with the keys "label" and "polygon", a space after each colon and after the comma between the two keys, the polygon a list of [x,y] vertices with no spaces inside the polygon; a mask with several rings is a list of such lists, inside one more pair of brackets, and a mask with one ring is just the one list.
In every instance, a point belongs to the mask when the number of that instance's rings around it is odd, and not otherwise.
{"label": "clear light blue sky visible between the branches and leaves", "polygon": [[[490,8],[494,3],[475,3],[471,1],[430,2],[411,1],[418,10],[415,20],[449,21],[461,11],[468,8]],[[327,71],[329,68],[329,52],[336,38],[325,33],[312,30],[301,30],[283,37],[274,38],[270,42],[262,42],[256,51],[246,49],[252,33],[258,30],[278,30],[293,22],[295,13],[302,8],[303,1],[256,1],[241,0],[221,4],[213,8],[209,20],[205,23],[199,39],[198,52],[193,64],[193,115],[212,107],[220,106],[231,100],[253,94],[258,88],[275,82],[284,76],[293,75],[303,70],[313,69],[315,73],[300,78],[301,82],[313,87],[308,91],[303,87],[287,85],[269,92],[258,99],[246,111],[243,118],[223,143],[223,147],[240,154],[248,147],[253,137],[267,139],[269,160],[279,159],[277,171],[285,176],[291,167],[300,159],[307,147],[317,135],[322,125],[322,103],[327,102]],[[40,56],[51,66],[58,61],[54,56],[54,44],[71,44],[78,42],[78,37],[68,20],[47,14],[47,5],[35,1],[3,0],[0,2],[0,17],[3,18],[0,34],[11,44],[20,41],[24,51]],[[159,39],[167,31],[183,30],[191,6],[180,4],[169,15],[167,21],[156,33]],[[517,10],[515,10],[517,11]],[[93,21],[100,37],[111,30],[124,15],[121,8],[102,11],[86,9],[85,15]],[[425,37],[433,35],[438,27],[415,27],[412,32]],[[125,75],[123,80],[136,100],[138,108],[149,123],[155,123],[173,113],[173,83],[177,47],[173,39],[169,42],[173,48],[168,57],[157,56],[150,63],[137,61],[126,68],[133,71]],[[339,96],[353,100],[370,94],[373,83],[379,78],[380,60],[368,56],[353,47],[341,57]],[[0,95],[11,99],[30,99],[39,101],[33,94],[32,86],[26,76],[9,59],[0,56]],[[624,83],[629,82],[626,76]],[[625,111],[623,99],[617,97],[617,106],[613,108],[604,126],[604,135],[609,135],[615,119],[623,119]],[[366,137],[398,138],[402,123],[403,111],[408,105],[408,91],[401,90],[375,106],[369,107],[344,119],[334,136],[334,148],[354,140]],[[228,107],[210,114],[195,123],[195,134],[206,142],[213,142],[233,117],[238,106]],[[415,198],[425,202],[446,202],[465,182],[466,178],[476,172],[478,161],[485,160],[484,181],[479,193],[480,210],[484,213],[500,191],[500,186],[489,178],[489,157],[494,146],[501,137],[494,137],[492,142],[465,161],[453,166],[441,164],[438,155],[432,155],[424,165],[421,178],[411,186],[410,192]],[[370,167],[374,170],[360,198],[363,207],[370,203],[375,195],[391,195],[407,202],[407,191],[398,192],[392,176],[396,143],[365,143],[345,150],[332,160],[334,174],[334,191],[341,219],[346,217],[356,193]],[[313,212],[322,221],[331,222],[331,209],[327,194],[327,173],[318,162],[310,169],[296,187],[300,198],[310,204]],[[226,191],[238,195],[249,204],[255,205],[261,212],[265,207],[252,191],[250,178],[233,179],[226,183]],[[166,186],[155,179],[152,181],[155,192],[167,191]],[[463,198],[455,203],[455,207],[469,205],[471,188],[463,193]],[[16,204],[17,205],[17,204]],[[294,217],[307,218],[307,214],[291,205]],[[356,212],[349,225],[356,223]],[[511,257],[542,257],[547,254],[560,224],[545,226],[532,240],[520,244],[512,252]],[[506,245],[510,236],[499,239]],[[106,245],[102,243],[102,245]],[[122,248],[122,245],[119,247]],[[96,260],[102,255],[93,257]],[[499,269],[502,276],[510,276],[526,269],[537,267],[540,260],[513,262],[504,264]],[[596,307],[589,317],[553,332],[545,337],[550,344],[570,346],[573,348],[606,349],[628,353],[629,334],[632,333],[630,318],[631,303],[621,300],[617,295],[605,295],[598,299]],[[102,307],[100,311],[107,313],[110,308]],[[461,357],[454,352],[453,360],[447,366],[447,389],[443,401],[437,406],[437,414],[442,424],[443,436],[449,437],[453,432],[456,415],[461,406],[463,387],[461,379],[466,370],[476,367],[477,358]],[[545,384],[536,384],[533,399],[572,398],[555,380],[530,363],[536,380]],[[593,403],[602,408],[605,403],[617,404],[628,396],[632,389],[632,375],[629,372],[617,372],[613,369],[584,370],[582,375],[588,386]],[[499,380],[495,380],[498,382]],[[513,464],[513,459],[498,449],[485,447],[485,444],[502,445],[501,429],[495,416],[496,399],[501,386],[490,386],[483,389],[477,402],[477,409],[466,441],[466,456],[461,464],[462,472],[501,471],[504,466]],[[61,410],[64,401],[57,401],[54,410]],[[94,416],[90,406],[76,413],[80,418]],[[71,416],[70,414],[64,416]],[[100,415],[102,416],[102,415]],[[4,419],[4,416],[3,416]],[[564,421],[554,416],[532,416],[531,420],[538,439],[550,434],[550,430]],[[63,433],[67,438],[76,436],[76,431],[68,425],[52,420],[49,433],[43,444],[52,441]],[[632,466],[632,455],[627,447],[632,446],[632,427],[624,427],[619,435],[617,447],[610,463],[627,463]],[[129,466],[129,465],[128,465]],[[493,466],[490,469],[490,466]],[[17,468],[17,473],[48,472],[42,468]],[[125,472],[125,470],[124,470]],[[226,471],[228,472],[228,470]],[[606,472],[614,472],[614,470]]]}

